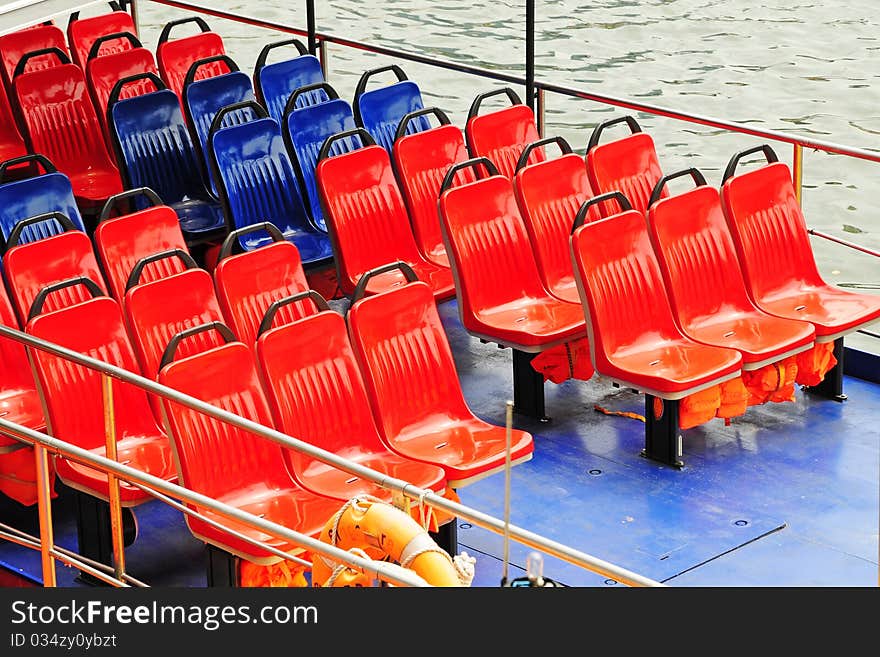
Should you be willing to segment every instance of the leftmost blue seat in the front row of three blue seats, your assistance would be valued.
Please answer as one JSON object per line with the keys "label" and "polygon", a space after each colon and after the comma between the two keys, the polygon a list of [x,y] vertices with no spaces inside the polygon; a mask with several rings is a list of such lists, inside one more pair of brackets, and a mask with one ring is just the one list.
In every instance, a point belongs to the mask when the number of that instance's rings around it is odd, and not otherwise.
{"label": "leftmost blue seat in the front row of three blue seats", "polygon": [[[223,127],[227,113],[243,109],[259,118]],[[211,166],[230,230],[270,222],[299,249],[304,267],[326,263],[333,256],[327,234],[309,220],[300,195],[293,165],[284,147],[278,122],[256,101],[225,107],[211,127]],[[265,231],[240,238],[245,251],[272,240]]]}

